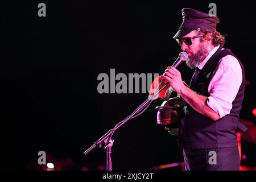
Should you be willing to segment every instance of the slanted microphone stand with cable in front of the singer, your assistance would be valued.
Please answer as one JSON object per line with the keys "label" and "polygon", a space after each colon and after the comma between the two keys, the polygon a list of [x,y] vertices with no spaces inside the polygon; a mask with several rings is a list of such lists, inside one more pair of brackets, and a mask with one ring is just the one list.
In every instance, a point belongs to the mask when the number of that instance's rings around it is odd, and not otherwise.
{"label": "slanted microphone stand with cable in front of the singer", "polygon": [[[163,80],[160,82],[160,84],[163,82]],[[159,85],[160,85],[159,84]],[[88,148],[88,150],[86,150],[84,152],[84,155],[88,154],[90,151],[92,151],[95,147],[101,148],[103,143],[105,143],[105,147],[104,149],[106,150],[106,171],[112,171],[112,158],[111,158],[111,154],[112,154],[112,146],[114,144],[114,140],[112,139],[112,135],[114,134],[114,132],[116,130],[119,129],[119,127],[121,127],[122,125],[124,125],[127,121],[129,121],[132,118],[137,117],[139,113],[139,111],[143,110],[144,108],[146,108],[147,106],[149,106],[153,100],[153,98],[161,91],[164,89],[164,87],[166,87],[166,85],[168,84],[168,82],[166,82],[166,84],[164,84],[160,89],[156,90],[156,92],[153,94],[153,96],[147,98],[146,101],[144,101],[139,107],[137,107],[137,109],[135,109],[133,111],[133,113],[131,113],[129,115],[129,117],[127,117],[126,119],[124,119],[123,121],[119,122],[117,125],[115,125],[114,129],[111,129],[108,131],[108,133],[106,133],[105,135],[103,135],[100,139],[98,139],[96,142],[94,142],[94,144]],[[159,87],[158,85],[158,87]]]}

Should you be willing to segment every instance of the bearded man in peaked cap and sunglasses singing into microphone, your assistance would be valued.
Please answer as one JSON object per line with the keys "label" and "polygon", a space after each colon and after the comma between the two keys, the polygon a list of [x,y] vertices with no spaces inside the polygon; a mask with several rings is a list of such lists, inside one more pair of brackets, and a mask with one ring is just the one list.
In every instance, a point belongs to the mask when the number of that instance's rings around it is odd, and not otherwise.
{"label": "bearded man in peaked cap and sunglasses singing into microphone", "polygon": [[183,22],[174,39],[188,53],[186,64],[195,69],[189,88],[180,72],[168,67],[162,78],[170,82],[186,102],[178,143],[186,170],[239,170],[237,127],[245,90],[240,60],[225,49],[225,38],[216,31],[220,20],[185,8]]}

